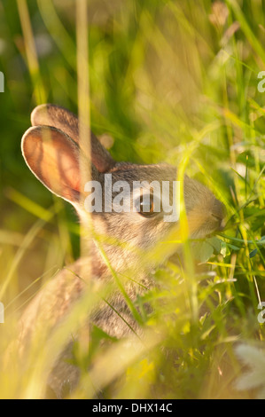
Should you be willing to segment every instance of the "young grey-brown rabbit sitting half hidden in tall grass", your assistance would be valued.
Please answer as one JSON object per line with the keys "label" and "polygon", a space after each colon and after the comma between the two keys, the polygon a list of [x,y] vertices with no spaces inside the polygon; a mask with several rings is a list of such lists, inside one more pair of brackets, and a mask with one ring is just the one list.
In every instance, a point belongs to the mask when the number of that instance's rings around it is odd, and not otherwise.
{"label": "young grey-brown rabbit sitting half hidden in tall grass", "polygon": [[[131,193],[128,199],[132,205],[135,204],[132,188],[136,181],[146,181],[148,184],[153,181],[158,183],[168,181],[170,201],[172,201],[172,184],[176,178],[174,166],[165,163],[138,165],[114,161],[92,132],[91,149],[88,153],[86,149],[81,148],[79,142],[78,118],[60,106],[51,104],[37,106],[31,114],[31,122],[32,128],[24,134],[21,143],[22,154],[28,168],[51,193],[74,206],[82,223],[92,228],[94,236],[95,233],[101,236],[101,247],[98,246],[97,239],[90,239],[87,255],[82,256],[67,269],[59,271],[58,275],[51,279],[29,303],[19,322],[21,355],[27,351],[27,346],[38,325],[42,327],[43,323],[49,323],[49,331],[52,331],[60,325],[61,320],[66,318],[82,297],[86,288],[84,283],[86,279],[88,281],[92,279],[96,284],[112,283],[111,271],[117,275],[132,271],[131,276],[135,280],[128,279],[124,283],[132,302],[136,300],[137,295],[146,291],[146,288],[155,286],[149,271],[172,256],[175,247],[171,245],[171,248],[169,245],[167,250],[156,252],[156,256],[147,254],[152,253],[152,248],[156,248],[161,241],[167,240],[170,233],[179,232],[178,221],[163,221],[160,211],[152,212],[153,201],[149,201],[149,210],[143,209],[144,206],[141,206],[143,201],[139,194],[136,195],[136,201],[138,206],[140,204],[140,208],[136,210],[129,212],[103,210],[88,214],[85,209],[87,193],[81,187],[82,157],[84,160],[87,158],[87,164],[91,168],[91,179],[102,185],[103,201],[105,174],[112,175],[113,183],[126,181],[129,184]],[[222,227],[224,217],[222,202],[218,201],[206,186],[185,176],[183,193],[191,237],[204,238]],[[111,206],[112,203],[113,201]],[[88,217],[91,220],[90,226],[87,222]],[[88,234],[91,236],[90,232]],[[95,311],[92,311],[88,326],[90,322],[110,336],[119,339],[132,331],[137,331],[138,327],[119,288],[109,295],[107,303],[101,303]],[[71,337],[69,341],[70,339]],[[66,350],[55,361],[49,376],[49,386],[58,398],[63,397],[65,382],[70,384],[71,389],[74,389],[78,383],[78,369],[69,363],[66,364],[64,360],[70,356],[70,352],[71,342],[66,343]]]}

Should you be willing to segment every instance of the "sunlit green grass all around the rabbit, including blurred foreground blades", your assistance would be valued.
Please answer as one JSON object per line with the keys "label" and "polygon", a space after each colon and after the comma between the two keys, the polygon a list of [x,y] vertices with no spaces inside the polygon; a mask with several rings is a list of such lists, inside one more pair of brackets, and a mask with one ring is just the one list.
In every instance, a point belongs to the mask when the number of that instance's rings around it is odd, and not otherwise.
{"label": "sunlit green grass all around the rabbit, including blurred foreground blades", "polygon": [[[146,345],[136,338],[137,353],[128,349],[119,366],[111,366],[126,344],[113,342],[102,352],[107,336],[97,328],[90,351],[76,343],[75,363],[82,371],[90,365],[91,372],[82,372],[73,397],[92,397],[95,384],[110,398],[256,395],[247,384],[236,389],[247,363],[236,348],[262,348],[265,338],[257,320],[258,303],[265,301],[265,93],[257,89],[265,65],[265,2],[227,0],[227,19],[222,10],[217,21],[213,3],[89,1],[92,130],[113,138],[117,161],[182,167],[224,202],[228,223],[219,240],[196,242],[182,267],[168,262],[156,271],[160,289],[131,306],[146,329]],[[75,2],[0,1],[0,70],[0,301],[6,318],[0,397],[42,397],[52,360],[46,353],[63,345],[67,323],[49,338],[47,350],[33,346],[23,366],[16,356],[11,366],[4,351],[25,303],[79,256],[79,226],[74,210],[29,172],[20,138],[40,102],[78,113]],[[187,272],[196,260],[204,267]],[[90,311],[89,301],[71,313],[74,326]],[[144,313],[146,302],[152,314]]]}

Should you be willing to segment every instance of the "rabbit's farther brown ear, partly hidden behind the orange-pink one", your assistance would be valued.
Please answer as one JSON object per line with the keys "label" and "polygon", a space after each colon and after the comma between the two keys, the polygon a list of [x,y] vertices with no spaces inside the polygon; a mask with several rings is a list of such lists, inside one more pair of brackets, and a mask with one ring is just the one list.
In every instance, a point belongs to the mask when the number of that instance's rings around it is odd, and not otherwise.
{"label": "rabbit's farther brown ear, partly hidden behind the orange-pink one", "polygon": [[[35,107],[31,114],[32,126],[51,126],[62,130],[77,144],[79,143],[78,118],[63,107],[45,104]],[[88,154],[86,149],[82,149]],[[91,161],[99,172],[107,172],[113,168],[115,161],[96,136],[91,132]]]}

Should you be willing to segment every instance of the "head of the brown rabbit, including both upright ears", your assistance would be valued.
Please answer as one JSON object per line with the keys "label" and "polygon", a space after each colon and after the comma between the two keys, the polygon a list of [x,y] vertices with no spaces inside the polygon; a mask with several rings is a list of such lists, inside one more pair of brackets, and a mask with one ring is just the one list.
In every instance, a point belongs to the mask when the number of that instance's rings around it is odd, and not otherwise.
{"label": "head of the brown rabbit, including both upright ears", "polygon": [[[27,166],[51,193],[74,206],[84,224],[90,216],[96,234],[105,237],[105,253],[115,270],[136,266],[137,251],[143,254],[154,248],[174,230],[177,239],[178,217],[171,217],[171,221],[167,217],[174,207],[175,167],[114,161],[93,133],[88,153],[79,141],[78,118],[59,106],[36,107],[31,122],[33,127],[22,138]],[[88,189],[82,189],[81,158],[90,166],[92,186]],[[139,182],[144,186],[136,187]],[[123,190],[121,199],[119,187],[122,189],[124,183],[127,192]],[[168,186],[167,213],[157,195],[163,184]],[[92,193],[99,199],[99,209],[93,212],[90,210]],[[147,200],[144,200],[145,193],[149,196]],[[183,193],[191,237],[203,238],[220,228],[222,203],[207,187],[185,177]],[[123,211],[117,203],[121,200]],[[158,210],[153,210],[155,205]],[[174,251],[169,248],[167,256]],[[97,250],[95,256],[98,256]]]}

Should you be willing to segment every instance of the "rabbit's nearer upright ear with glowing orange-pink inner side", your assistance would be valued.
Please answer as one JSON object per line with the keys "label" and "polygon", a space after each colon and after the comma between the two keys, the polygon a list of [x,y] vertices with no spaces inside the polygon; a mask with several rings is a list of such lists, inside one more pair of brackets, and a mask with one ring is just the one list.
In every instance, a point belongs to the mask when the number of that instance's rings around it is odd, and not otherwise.
{"label": "rabbit's nearer upright ear with glowing orange-pink inner side", "polygon": [[[27,166],[51,193],[72,203],[80,201],[81,175],[79,146],[56,128],[38,126],[22,138],[22,153]],[[92,165],[92,179],[98,172]]]}

